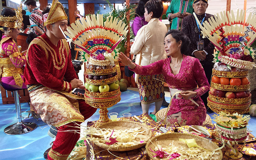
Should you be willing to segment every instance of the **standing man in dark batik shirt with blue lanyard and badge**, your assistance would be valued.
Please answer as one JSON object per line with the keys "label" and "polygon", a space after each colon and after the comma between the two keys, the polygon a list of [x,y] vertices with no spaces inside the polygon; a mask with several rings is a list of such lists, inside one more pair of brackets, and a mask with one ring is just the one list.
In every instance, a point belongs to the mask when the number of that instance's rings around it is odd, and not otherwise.
{"label": "standing man in dark batik shirt with blue lanyard and badge", "polygon": [[[208,21],[208,19],[213,16],[212,14],[205,13],[206,8],[208,7],[208,0],[194,0],[193,8],[196,13],[196,17],[203,24],[204,21]],[[201,29],[199,30],[199,25],[196,22],[196,19],[193,14],[185,17],[183,19],[182,24],[182,32],[190,38],[190,45],[188,50],[188,55],[196,57],[200,60],[205,75],[208,79],[209,84],[211,84],[211,76],[212,76],[212,67],[213,67],[213,49],[214,45],[209,41],[209,39],[203,38],[203,34],[201,33]],[[207,97],[208,92],[201,96],[204,101],[204,105],[206,106],[208,111],[211,111],[207,107]]]}

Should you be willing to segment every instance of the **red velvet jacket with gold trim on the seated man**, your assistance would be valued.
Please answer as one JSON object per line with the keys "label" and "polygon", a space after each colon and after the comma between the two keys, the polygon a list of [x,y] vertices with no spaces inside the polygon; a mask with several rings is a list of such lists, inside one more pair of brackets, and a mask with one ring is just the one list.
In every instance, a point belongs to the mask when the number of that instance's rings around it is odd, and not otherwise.
{"label": "red velvet jacket with gold trim on the seated man", "polygon": [[71,91],[69,82],[77,76],[71,62],[69,45],[65,39],[59,40],[56,47],[46,34],[43,34],[29,44],[26,58],[24,70],[26,85],[42,84],[54,90]]}

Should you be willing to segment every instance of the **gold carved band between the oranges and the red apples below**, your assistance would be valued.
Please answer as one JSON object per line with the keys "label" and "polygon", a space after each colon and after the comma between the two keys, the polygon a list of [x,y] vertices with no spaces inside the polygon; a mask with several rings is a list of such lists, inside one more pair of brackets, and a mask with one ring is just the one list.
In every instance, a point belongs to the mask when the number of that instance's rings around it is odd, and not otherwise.
{"label": "gold carved band between the oranges and the red apples below", "polygon": [[211,87],[222,91],[247,91],[250,89],[250,84],[245,85],[224,85],[211,82]]}

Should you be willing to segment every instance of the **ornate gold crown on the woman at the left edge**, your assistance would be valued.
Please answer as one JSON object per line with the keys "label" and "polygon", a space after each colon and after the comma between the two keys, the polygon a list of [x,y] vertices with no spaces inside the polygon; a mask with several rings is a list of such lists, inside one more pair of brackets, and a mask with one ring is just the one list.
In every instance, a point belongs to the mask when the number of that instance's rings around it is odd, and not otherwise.
{"label": "ornate gold crown on the woman at the left edge", "polygon": [[16,16],[2,16],[0,15],[0,26],[8,27],[8,28],[21,28],[22,27],[22,4],[20,3],[20,6],[15,11]]}

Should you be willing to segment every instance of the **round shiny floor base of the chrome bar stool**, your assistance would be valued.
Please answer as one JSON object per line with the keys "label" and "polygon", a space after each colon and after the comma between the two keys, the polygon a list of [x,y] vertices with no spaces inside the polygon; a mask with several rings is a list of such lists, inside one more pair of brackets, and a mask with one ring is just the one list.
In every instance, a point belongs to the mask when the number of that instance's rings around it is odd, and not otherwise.
{"label": "round shiny floor base of the chrome bar stool", "polygon": [[9,135],[24,134],[33,131],[37,125],[31,122],[21,122],[21,124],[12,124],[4,129],[4,133]]}

